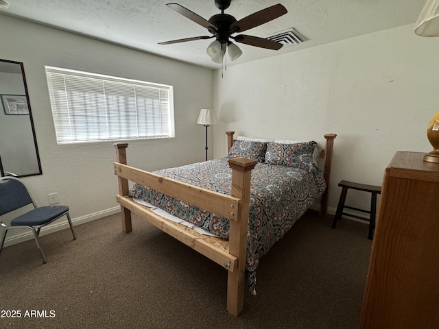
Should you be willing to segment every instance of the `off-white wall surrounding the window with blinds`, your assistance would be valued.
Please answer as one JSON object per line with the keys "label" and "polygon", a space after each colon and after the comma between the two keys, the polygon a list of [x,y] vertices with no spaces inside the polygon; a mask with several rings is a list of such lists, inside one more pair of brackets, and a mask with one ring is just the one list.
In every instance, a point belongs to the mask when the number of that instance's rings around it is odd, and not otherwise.
{"label": "off-white wall surrounding the window with blinds", "polygon": [[[24,63],[43,175],[24,178],[38,204],[58,193],[73,219],[117,207],[112,143],[57,145],[45,65],[174,86],[176,138],[132,141],[128,164],[154,170],[204,160],[201,108],[211,108],[213,72],[107,42],[0,15],[1,55]],[[212,149],[209,149],[212,153]],[[9,233],[8,233],[9,235]]]}

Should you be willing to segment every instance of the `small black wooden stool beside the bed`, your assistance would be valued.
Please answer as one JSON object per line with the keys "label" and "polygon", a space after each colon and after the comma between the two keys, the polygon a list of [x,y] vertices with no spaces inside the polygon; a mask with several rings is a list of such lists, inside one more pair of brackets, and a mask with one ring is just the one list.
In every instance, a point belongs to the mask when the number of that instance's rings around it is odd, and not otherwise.
{"label": "small black wooden stool beside the bed", "polygon": [[[342,194],[340,194],[340,199],[338,200],[337,212],[335,212],[334,221],[332,223],[332,228],[335,228],[337,221],[342,219],[342,215],[347,215],[350,217],[355,217],[358,219],[364,219],[354,214],[347,214],[343,212],[344,208],[353,209],[361,212],[367,212],[370,214],[369,219],[369,239],[373,239],[373,230],[375,230],[375,216],[377,215],[377,194],[381,194],[381,186],[359,184],[354,182],[348,182],[347,180],[342,180],[338,183],[338,186],[342,187]],[[353,188],[354,190],[364,191],[371,193],[372,197],[370,200],[370,210],[359,209],[351,206],[345,206],[346,195],[348,194],[348,189]],[[367,219],[366,219],[367,220]]]}

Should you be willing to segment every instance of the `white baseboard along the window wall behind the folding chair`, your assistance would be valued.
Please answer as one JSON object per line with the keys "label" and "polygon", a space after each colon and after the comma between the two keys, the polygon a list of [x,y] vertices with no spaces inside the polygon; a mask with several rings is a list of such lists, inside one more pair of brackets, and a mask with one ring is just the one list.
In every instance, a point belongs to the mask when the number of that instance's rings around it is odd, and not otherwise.
{"label": "white baseboard along the window wall behind the folding chair", "polygon": [[[86,223],[88,221],[94,221],[95,219],[117,214],[117,212],[121,212],[120,206],[116,206],[114,208],[109,208],[106,210],[101,210],[98,212],[93,212],[92,214],[81,216],[78,218],[72,218],[71,222],[73,226],[77,226]],[[40,236],[54,233],[60,230],[64,230],[66,228],[69,228],[69,222],[67,221],[67,219],[65,221],[60,221],[59,223],[55,221],[54,223],[51,223],[50,225],[42,228],[40,231]],[[14,234],[10,237],[6,236],[5,244],[3,245],[3,247],[8,247],[8,245],[15,245],[16,243],[21,243],[23,241],[32,240],[32,239],[34,239],[34,235],[29,230],[26,230],[25,232],[20,234]]]}

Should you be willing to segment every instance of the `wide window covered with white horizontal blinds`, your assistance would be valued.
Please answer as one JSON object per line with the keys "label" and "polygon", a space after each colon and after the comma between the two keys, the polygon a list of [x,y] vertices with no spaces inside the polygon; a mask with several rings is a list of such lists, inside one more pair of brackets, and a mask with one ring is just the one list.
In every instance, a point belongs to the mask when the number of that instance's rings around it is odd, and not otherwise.
{"label": "wide window covered with white horizontal blinds", "polygon": [[58,144],[174,137],[172,86],[45,68]]}

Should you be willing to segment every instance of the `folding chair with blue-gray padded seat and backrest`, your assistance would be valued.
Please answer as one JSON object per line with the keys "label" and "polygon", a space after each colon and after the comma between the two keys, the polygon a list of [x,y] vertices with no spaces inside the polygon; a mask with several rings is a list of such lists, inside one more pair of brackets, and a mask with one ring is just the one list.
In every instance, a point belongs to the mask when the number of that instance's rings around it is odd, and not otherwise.
{"label": "folding chair with blue-gray padded seat and backrest", "polygon": [[[24,206],[28,206],[29,204],[32,204],[34,208],[25,212],[23,215],[19,215],[19,217],[12,219],[10,226],[1,221],[1,216],[7,214],[8,212],[23,208]],[[46,256],[38,241],[40,229],[64,215],[67,216],[71,233],[73,234],[73,240],[75,240],[76,236],[71,224],[68,206],[37,207],[32,195],[29,193],[27,187],[23,182],[21,182],[21,180],[9,176],[0,178],[0,225],[3,229],[3,234],[1,235],[0,240],[0,253],[1,249],[3,248],[3,243],[5,242],[6,233],[8,230],[27,229],[31,230],[32,234],[34,235],[36,246],[40,251],[41,258],[43,258],[43,263],[47,263]]]}

